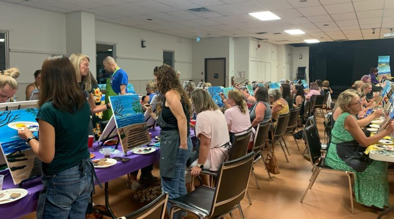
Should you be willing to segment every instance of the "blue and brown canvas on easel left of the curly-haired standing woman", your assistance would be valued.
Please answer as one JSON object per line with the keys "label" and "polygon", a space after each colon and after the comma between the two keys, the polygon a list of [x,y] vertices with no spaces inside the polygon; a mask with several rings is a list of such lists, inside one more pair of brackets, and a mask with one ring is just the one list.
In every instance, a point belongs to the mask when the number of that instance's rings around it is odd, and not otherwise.
{"label": "blue and brown canvas on easel left of the curly-haired standing woman", "polygon": [[151,138],[138,94],[110,96],[109,101],[123,151],[149,144]]}

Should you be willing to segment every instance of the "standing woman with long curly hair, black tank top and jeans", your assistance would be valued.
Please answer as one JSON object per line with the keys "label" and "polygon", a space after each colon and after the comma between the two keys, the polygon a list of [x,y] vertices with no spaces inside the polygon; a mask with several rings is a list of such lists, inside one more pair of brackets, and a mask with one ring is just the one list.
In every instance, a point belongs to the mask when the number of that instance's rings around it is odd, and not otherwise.
{"label": "standing woman with long curly hair, black tank top and jeans", "polygon": [[[185,195],[186,161],[192,151],[190,138],[190,109],[191,101],[176,78],[174,69],[163,64],[158,67],[157,89],[160,94],[157,105],[157,116],[150,107],[144,105],[152,118],[162,128],[160,132],[160,176],[162,188],[169,193],[169,198]],[[170,212],[170,205],[167,205]],[[174,219],[180,219],[181,212],[174,214]]]}

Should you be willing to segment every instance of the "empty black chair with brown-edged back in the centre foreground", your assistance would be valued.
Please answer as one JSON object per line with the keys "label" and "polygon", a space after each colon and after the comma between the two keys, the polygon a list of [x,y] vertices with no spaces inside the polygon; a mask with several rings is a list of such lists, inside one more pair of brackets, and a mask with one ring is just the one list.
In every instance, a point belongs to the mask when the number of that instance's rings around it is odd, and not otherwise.
{"label": "empty black chair with brown-edged back in the centre foreground", "polygon": [[169,199],[172,204],[170,219],[179,210],[188,211],[200,219],[218,219],[227,214],[233,218],[232,211],[236,208],[243,219],[239,202],[247,191],[254,157],[255,153],[252,152],[222,163],[215,188],[200,186],[186,195]]}

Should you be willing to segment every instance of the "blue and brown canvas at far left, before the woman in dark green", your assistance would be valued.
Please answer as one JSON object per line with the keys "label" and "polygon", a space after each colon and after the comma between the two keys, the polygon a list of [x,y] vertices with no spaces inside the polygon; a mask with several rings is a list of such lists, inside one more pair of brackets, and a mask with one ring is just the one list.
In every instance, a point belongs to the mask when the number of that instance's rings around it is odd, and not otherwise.
{"label": "blue and brown canvas at far left, before the woman in dark green", "polygon": [[[14,184],[41,175],[41,160],[34,155],[25,140],[19,138],[18,131],[8,127],[12,122],[36,122],[38,109],[0,111],[0,147],[11,173]],[[33,135],[38,137],[37,131]]]}

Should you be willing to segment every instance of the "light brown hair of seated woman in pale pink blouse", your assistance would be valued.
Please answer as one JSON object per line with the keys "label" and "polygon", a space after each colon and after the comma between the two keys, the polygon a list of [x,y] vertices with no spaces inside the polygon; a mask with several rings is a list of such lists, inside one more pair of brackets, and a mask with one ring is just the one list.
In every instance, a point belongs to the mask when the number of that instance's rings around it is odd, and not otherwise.
{"label": "light brown hair of seated woman in pale pink blouse", "polygon": [[216,105],[212,97],[208,94],[207,91],[205,91],[205,89],[194,90],[192,92],[191,99],[197,114],[206,110],[219,109],[218,105]]}

